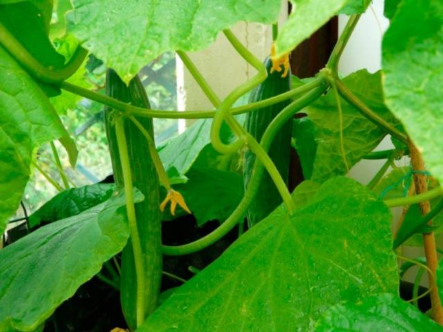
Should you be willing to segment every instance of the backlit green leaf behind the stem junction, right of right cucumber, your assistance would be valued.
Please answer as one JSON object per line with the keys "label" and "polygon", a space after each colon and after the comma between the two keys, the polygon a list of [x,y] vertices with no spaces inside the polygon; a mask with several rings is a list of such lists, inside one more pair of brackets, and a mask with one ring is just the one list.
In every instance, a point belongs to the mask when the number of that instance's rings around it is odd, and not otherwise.
{"label": "backlit green leaf behind the stem junction, right of right cucumber", "polygon": [[[381,73],[370,74],[365,69],[356,71],[343,79],[343,83],[368,105],[375,113],[393,122],[394,118],[383,104]],[[386,131],[361,115],[351,104],[341,99],[343,110],[343,149],[347,166],[351,168],[361,157],[372,151],[386,136]],[[311,180],[323,182],[332,176],[345,174],[347,169],[341,152],[340,122],[334,91],[305,108],[314,124],[317,142],[314,169]],[[300,154],[301,160],[309,155]]]}

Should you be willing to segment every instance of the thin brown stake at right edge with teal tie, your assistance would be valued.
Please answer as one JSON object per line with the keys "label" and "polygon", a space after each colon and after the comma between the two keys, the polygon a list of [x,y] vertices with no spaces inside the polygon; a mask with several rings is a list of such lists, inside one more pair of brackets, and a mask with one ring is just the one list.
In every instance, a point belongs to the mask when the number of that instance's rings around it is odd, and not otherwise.
{"label": "thin brown stake at right edge with teal tie", "polygon": [[[409,143],[410,151],[410,163],[414,171],[424,172],[424,162],[422,155],[418,151],[413,142]],[[420,173],[414,173],[415,192],[422,194],[428,191],[428,185],[426,183],[426,175]],[[429,201],[423,201],[419,203],[422,215],[428,214],[431,211],[431,204]],[[428,225],[432,225],[432,220],[428,222]],[[426,256],[426,265],[432,271],[433,275],[428,273],[429,286],[431,287],[431,304],[432,304],[432,317],[435,322],[443,325],[443,308],[442,302],[440,302],[440,296],[438,295],[437,282],[435,280],[435,272],[437,270],[437,249],[435,246],[434,233],[423,234],[424,254]]]}

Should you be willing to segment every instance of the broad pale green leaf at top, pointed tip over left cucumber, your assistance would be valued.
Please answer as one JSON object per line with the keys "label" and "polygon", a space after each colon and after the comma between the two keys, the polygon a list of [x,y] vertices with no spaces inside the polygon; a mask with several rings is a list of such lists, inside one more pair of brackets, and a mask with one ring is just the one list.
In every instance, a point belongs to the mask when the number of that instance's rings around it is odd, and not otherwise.
{"label": "broad pale green leaf at top, pointed tip over left cucumber", "polygon": [[170,50],[199,50],[237,21],[272,23],[275,0],[73,0],[68,31],[125,82]]}

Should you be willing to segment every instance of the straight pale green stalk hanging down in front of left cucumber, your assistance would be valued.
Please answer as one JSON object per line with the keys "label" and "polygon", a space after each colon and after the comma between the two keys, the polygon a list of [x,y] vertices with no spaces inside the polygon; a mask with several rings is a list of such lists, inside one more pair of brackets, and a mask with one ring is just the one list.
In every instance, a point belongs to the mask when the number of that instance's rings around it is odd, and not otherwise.
{"label": "straight pale green stalk hanging down in front of left cucumber", "polygon": [[132,250],[134,252],[134,263],[137,277],[137,326],[140,326],[145,320],[145,278],[143,271],[145,270],[142,257],[142,249],[140,237],[138,235],[138,228],[136,222],[136,210],[134,207],[134,187],[132,185],[132,172],[129,163],[129,154],[127,151],[127,142],[125,136],[125,124],[123,118],[116,120],[116,137],[118,145],[118,153],[120,154],[120,161],[123,173],[123,182],[125,185],[125,201],[127,219],[129,223],[129,231],[131,233]]}

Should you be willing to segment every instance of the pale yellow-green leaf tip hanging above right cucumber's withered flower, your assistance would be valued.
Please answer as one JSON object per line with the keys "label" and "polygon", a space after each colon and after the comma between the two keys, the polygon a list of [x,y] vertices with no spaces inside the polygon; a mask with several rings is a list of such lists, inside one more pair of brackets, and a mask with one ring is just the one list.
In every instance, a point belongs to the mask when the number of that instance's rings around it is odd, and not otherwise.
{"label": "pale yellow-green leaf tip hanging above right cucumber's withered flower", "polygon": [[[278,2],[278,1],[275,1]],[[276,56],[288,53],[338,13],[347,0],[291,0],[293,10],[275,42]]]}

